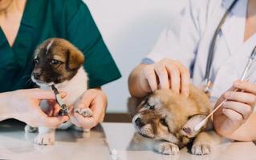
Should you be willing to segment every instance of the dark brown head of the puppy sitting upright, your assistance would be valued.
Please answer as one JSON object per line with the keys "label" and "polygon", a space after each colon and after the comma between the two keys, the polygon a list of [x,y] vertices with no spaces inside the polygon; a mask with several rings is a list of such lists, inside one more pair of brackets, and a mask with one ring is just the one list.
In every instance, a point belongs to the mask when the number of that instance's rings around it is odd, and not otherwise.
{"label": "dark brown head of the puppy sitting upright", "polygon": [[83,62],[83,53],[67,40],[47,39],[35,50],[35,68],[32,76],[35,78],[35,75],[38,75],[39,78],[35,79],[39,83],[58,84],[73,78]]}

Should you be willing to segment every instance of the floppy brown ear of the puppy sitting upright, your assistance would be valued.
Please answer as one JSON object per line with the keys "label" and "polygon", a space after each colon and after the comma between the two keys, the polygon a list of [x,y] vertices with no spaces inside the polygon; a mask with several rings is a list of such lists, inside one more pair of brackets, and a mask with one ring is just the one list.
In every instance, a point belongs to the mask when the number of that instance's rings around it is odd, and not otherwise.
{"label": "floppy brown ear of the puppy sitting upright", "polygon": [[83,53],[79,50],[67,50],[67,69],[78,70],[84,62]]}

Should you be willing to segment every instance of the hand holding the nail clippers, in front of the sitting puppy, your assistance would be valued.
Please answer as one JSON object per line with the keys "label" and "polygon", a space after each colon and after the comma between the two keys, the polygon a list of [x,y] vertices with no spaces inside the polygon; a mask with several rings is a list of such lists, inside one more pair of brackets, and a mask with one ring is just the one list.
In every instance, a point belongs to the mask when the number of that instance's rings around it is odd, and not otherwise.
{"label": "hand holding the nail clippers, in front of the sitting puppy", "polygon": [[[9,107],[8,114],[10,118],[18,119],[26,122],[29,126],[46,126],[49,128],[57,128],[63,122],[68,120],[67,116],[49,117],[41,110],[39,103],[42,100],[55,99],[55,94],[52,90],[16,90],[9,92]],[[64,97],[65,94],[61,93]]]}

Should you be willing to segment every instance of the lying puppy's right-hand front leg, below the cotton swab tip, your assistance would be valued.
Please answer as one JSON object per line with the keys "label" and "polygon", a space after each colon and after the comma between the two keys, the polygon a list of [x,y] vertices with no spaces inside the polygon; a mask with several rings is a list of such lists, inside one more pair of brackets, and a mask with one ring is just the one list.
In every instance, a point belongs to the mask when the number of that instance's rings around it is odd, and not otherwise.
{"label": "lying puppy's right-hand front leg, below the cotton swab tip", "polygon": [[220,142],[221,136],[215,131],[201,132],[193,141],[191,153],[197,155],[209,154]]}

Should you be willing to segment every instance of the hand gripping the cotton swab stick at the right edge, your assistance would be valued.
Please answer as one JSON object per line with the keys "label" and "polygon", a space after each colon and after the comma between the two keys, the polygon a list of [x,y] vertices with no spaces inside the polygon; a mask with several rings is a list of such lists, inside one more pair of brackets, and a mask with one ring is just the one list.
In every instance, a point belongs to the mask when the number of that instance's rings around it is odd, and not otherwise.
{"label": "hand gripping the cotton swab stick at the right edge", "polygon": [[[238,91],[234,92],[235,89]],[[243,91],[241,91],[243,90]],[[227,101],[214,114],[214,126],[222,134],[232,134],[250,117],[256,103],[256,85],[246,81],[236,81],[234,86],[218,99],[218,106]]]}

